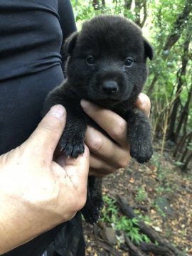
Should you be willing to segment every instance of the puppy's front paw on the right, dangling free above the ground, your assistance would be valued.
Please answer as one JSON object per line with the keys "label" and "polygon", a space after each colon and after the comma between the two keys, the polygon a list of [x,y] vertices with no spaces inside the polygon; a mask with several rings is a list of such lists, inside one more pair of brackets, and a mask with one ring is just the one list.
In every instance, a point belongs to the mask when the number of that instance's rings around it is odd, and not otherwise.
{"label": "puppy's front paw on the right, dangling free above the ground", "polygon": [[140,164],[149,161],[152,154],[153,147],[150,141],[136,141],[130,144],[130,155]]}

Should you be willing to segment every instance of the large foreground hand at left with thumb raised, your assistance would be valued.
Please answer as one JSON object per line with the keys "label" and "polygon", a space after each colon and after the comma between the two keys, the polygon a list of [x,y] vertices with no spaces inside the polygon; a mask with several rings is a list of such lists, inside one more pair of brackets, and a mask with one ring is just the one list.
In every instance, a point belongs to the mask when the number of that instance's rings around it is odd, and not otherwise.
{"label": "large foreground hand at left with thumb raised", "polygon": [[73,218],[87,197],[89,151],[77,159],[53,152],[66,113],[56,105],[29,139],[0,157],[0,255]]}

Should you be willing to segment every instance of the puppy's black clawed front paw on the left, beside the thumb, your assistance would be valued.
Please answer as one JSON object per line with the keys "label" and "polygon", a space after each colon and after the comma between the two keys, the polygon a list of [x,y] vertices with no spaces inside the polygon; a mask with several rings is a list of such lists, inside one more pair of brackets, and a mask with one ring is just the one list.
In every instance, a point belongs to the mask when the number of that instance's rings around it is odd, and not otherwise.
{"label": "puppy's black clawed front paw on the left, beside the thumb", "polygon": [[82,137],[67,137],[65,133],[60,139],[59,146],[60,151],[63,151],[66,156],[71,156],[73,158],[77,158],[85,151],[84,141]]}

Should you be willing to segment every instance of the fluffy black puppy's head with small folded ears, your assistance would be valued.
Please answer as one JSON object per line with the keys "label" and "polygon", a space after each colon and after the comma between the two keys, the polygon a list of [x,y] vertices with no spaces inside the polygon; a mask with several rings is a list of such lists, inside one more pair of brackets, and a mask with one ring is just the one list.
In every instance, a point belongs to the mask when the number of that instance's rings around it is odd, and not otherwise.
{"label": "fluffy black puppy's head with small folded ears", "polygon": [[140,28],[120,16],[96,16],[65,42],[66,74],[73,90],[105,105],[137,97],[153,49]]}

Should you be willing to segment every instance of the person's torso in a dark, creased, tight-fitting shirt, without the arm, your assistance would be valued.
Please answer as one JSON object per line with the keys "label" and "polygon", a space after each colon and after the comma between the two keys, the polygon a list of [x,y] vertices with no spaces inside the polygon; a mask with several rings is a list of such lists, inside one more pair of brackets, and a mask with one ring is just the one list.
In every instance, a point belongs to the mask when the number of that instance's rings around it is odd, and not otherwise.
{"label": "person's torso in a dark, creased, tight-fitting shirt, without the arm", "polygon": [[0,154],[21,144],[63,80],[58,0],[0,0]]}

